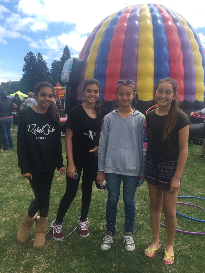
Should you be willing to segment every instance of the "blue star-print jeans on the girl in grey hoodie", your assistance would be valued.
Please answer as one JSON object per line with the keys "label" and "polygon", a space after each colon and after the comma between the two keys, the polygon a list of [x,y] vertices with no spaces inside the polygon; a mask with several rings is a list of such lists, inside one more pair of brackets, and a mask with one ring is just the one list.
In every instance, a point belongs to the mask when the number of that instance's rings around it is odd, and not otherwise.
{"label": "blue star-print jeans on the girl in grey hoodie", "polygon": [[117,216],[117,203],[120,197],[120,185],[123,183],[123,201],[125,212],[124,232],[134,231],[135,221],[135,192],[138,183],[138,176],[128,176],[116,173],[106,173],[108,200],[106,206],[107,231],[115,236],[115,222]]}

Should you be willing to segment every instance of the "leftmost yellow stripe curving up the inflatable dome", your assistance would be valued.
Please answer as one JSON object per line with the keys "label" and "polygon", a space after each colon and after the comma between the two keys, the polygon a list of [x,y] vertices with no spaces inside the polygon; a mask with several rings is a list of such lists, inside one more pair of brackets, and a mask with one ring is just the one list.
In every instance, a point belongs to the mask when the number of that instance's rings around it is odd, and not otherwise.
{"label": "leftmost yellow stripe curving up the inflatable dome", "polygon": [[107,20],[105,20],[101,26],[101,28],[98,30],[95,36],[95,40],[93,41],[91,47],[90,47],[90,53],[87,58],[87,65],[84,73],[85,80],[88,78],[94,78],[94,69],[95,69],[95,61],[98,53],[99,44],[103,38],[103,33],[105,29],[107,28],[110,20],[114,17],[116,13],[111,14]]}

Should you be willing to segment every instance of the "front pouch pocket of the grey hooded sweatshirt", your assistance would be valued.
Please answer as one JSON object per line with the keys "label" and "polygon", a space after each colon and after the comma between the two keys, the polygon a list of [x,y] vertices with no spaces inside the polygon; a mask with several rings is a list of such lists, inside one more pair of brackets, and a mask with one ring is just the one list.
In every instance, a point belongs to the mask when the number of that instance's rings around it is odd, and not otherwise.
{"label": "front pouch pocket of the grey hooded sweatshirt", "polygon": [[139,171],[137,167],[136,151],[124,149],[110,149],[106,156],[105,166],[111,169],[123,169],[126,171]]}

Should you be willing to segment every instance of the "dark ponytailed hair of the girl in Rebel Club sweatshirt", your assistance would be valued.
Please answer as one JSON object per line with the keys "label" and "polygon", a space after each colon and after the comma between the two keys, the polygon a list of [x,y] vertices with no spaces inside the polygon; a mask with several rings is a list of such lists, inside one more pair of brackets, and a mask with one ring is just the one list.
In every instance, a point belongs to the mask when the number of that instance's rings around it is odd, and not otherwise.
{"label": "dark ponytailed hair of the girl in Rebel Club sweatshirt", "polygon": [[[54,87],[49,82],[39,82],[35,87],[35,96],[38,96],[38,92],[44,88],[44,87],[50,87],[53,90],[54,94]],[[54,102],[48,107],[48,114],[54,121],[60,121],[60,113],[58,111],[58,108]]]}

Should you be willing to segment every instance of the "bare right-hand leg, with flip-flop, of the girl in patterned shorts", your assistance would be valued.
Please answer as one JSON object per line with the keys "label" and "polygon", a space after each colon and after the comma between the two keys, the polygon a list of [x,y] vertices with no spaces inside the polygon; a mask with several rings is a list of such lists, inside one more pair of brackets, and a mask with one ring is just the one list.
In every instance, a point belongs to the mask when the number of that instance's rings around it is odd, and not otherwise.
{"label": "bare right-hand leg, with flip-flop, of the girl in patterned shorts", "polygon": [[[179,191],[176,193],[169,193],[169,191],[163,191],[163,213],[165,216],[165,225],[167,232],[167,242],[166,242],[166,252],[167,256],[174,256],[174,236],[175,230],[177,227],[177,197]],[[167,259],[166,255],[164,256],[165,262],[174,261],[174,257]]]}

